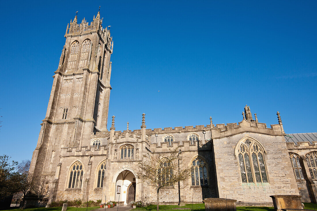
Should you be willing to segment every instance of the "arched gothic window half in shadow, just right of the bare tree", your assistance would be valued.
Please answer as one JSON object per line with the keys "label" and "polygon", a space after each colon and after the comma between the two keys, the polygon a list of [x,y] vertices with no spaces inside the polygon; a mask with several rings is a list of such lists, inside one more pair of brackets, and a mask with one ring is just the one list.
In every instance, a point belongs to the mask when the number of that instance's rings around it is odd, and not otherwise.
{"label": "arched gothic window half in shadow, just right of the bare tree", "polygon": [[191,185],[208,185],[206,163],[200,157],[196,157],[192,161],[191,169]]}

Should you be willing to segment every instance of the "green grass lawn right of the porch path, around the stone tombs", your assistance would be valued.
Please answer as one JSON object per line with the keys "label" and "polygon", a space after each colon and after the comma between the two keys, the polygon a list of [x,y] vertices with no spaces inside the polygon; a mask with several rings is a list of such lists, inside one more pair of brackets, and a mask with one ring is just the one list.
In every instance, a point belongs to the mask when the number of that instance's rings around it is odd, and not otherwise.
{"label": "green grass lawn right of the porch path, around the stone tombs", "polygon": [[[317,205],[313,203],[304,203],[305,208],[304,209],[312,209],[317,211]],[[159,205],[160,211],[177,211],[177,209],[172,208],[178,208],[177,205]],[[205,210],[205,204],[186,204],[185,206],[180,206],[180,208],[191,208],[193,211],[204,211]],[[236,207],[237,211],[274,211],[273,207]],[[152,204],[147,207],[140,207],[132,209],[135,211],[156,211],[156,205]],[[186,211],[182,210],[182,211]]]}

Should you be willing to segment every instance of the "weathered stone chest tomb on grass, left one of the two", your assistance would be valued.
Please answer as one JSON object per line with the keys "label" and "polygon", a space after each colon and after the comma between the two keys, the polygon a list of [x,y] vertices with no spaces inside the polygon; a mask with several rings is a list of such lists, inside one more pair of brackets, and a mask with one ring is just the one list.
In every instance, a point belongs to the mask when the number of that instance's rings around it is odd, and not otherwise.
{"label": "weathered stone chest tomb on grass, left one of the two", "polygon": [[236,211],[236,201],[234,199],[208,198],[203,200],[205,211]]}

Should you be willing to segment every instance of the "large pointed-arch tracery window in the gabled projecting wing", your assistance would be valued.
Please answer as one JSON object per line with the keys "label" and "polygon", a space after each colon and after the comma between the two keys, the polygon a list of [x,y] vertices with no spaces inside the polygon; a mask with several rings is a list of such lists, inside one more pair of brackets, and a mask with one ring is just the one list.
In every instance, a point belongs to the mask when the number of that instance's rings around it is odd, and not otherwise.
{"label": "large pointed-arch tracery window in the gabled projecting wing", "polygon": [[268,182],[262,147],[247,139],[240,144],[237,154],[242,182]]}

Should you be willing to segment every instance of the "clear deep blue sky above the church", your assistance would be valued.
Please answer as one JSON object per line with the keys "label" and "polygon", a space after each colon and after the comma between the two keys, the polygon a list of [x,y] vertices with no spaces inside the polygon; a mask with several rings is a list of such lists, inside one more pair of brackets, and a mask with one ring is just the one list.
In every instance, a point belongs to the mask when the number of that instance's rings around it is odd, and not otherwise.
{"label": "clear deep blue sky above the church", "polygon": [[111,25],[108,128],[242,120],[317,132],[317,1],[3,1],[0,154],[30,159],[67,23],[100,12]]}

